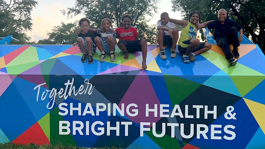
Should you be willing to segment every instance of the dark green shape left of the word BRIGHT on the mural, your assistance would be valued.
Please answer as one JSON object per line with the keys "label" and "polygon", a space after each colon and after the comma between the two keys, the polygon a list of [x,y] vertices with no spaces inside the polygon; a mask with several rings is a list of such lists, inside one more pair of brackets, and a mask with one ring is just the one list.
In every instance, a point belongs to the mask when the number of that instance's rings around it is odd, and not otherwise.
{"label": "dark green shape left of the word BRIGHT on the mural", "polygon": [[59,108],[56,107],[50,111],[50,142],[51,144],[61,143],[62,145],[77,146],[72,134],[59,135],[59,121],[63,121],[63,116],[59,115]]}

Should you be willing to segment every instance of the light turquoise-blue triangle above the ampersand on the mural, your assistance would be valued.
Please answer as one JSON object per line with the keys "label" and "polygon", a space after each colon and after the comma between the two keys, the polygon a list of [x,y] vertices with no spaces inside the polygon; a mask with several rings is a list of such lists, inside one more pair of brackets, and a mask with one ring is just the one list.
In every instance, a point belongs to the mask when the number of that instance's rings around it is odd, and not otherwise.
{"label": "light turquoise-blue triangle above the ampersand on the mural", "polygon": [[220,75],[212,76],[208,80],[206,80],[203,85],[212,87],[214,89],[218,89],[221,91],[225,91],[227,93],[236,95],[241,97],[239,91],[237,90],[235,84],[233,83],[230,76],[221,76],[222,72],[218,72]]}

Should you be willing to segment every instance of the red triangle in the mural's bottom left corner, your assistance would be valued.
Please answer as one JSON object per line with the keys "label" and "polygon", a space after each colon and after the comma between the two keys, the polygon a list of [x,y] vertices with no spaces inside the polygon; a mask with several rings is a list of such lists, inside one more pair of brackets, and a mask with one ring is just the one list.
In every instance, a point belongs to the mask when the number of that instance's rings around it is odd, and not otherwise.
{"label": "red triangle in the mural's bottom left corner", "polygon": [[34,143],[37,145],[45,145],[50,144],[49,139],[44,134],[41,129],[41,126],[38,122],[32,125],[29,129],[27,129],[23,134],[18,136],[15,140],[12,141],[14,144],[23,144],[27,145],[30,143]]}

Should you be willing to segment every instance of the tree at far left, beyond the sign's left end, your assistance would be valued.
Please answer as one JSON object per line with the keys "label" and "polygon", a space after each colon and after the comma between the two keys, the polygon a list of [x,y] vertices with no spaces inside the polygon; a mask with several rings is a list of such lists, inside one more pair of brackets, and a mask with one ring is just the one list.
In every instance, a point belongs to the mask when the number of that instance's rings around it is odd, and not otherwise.
{"label": "tree at far left, beyond the sign's left end", "polygon": [[27,44],[30,40],[24,32],[31,30],[31,11],[38,2],[35,0],[0,0],[0,37],[13,35],[19,43]]}

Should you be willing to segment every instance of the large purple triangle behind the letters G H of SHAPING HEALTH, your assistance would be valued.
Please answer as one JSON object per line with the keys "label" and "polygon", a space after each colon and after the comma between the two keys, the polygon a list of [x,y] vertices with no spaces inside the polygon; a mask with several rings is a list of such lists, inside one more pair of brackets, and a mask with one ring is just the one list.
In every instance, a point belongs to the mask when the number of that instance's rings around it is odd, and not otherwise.
{"label": "large purple triangle behind the letters G H of SHAPING HEALTH", "polygon": [[[131,117],[128,114],[125,114],[132,122],[136,122],[140,124],[140,122],[151,122],[150,126],[152,127],[152,122],[157,122],[159,119],[159,105],[160,102],[156,96],[154,88],[149,80],[149,77],[145,72],[141,72],[141,75],[137,75],[134,78],[134,81],[131,83],[131,86],[128,88],[126,93],[124,94],[122,100],[119,103],[119,107],[121,103],[124,103],[124,106],[127,107],[130,103],[135,103],[138,105],[138,115],[135,117]],[[158,117],[154,117],[154,112],[149,112],[149,116],[145,116],[145,104],[149,104],[149,108],[154,109],[154,105],[157,104],[157,113]],[[130,109],[131,112],[132,109]]]}

